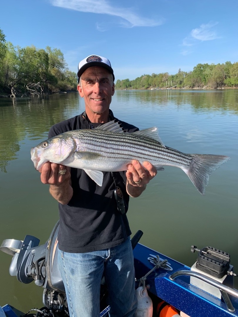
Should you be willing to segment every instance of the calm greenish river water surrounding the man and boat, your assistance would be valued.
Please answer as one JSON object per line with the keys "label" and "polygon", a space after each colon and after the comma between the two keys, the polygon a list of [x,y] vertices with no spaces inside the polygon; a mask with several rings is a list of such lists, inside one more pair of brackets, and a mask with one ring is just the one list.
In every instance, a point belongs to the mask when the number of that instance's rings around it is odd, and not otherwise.
{"label": "calm greenish river water surrounding the man and boat", "polygon": [[[238,89],[116,91],[111,109],[140,129],[158,126],[164,144],[179,151],[231,157],[211,175],[205,196],[182,170],[165,167],[130,200],[128,218],[133,234],[144,232],[142,244],[189,266],[196,260],[191,245],[212,246],[231,254],[238,274]],[[77,93],[0,99],[0,243],[26,234],[40,244],[49,238],[57,202],[40,182],[30,148],[47,139],[50,126],[83,111]],[[1,252],[0,261],[0,305],[42,307],[43,289],[9,275],[11,256]]]}

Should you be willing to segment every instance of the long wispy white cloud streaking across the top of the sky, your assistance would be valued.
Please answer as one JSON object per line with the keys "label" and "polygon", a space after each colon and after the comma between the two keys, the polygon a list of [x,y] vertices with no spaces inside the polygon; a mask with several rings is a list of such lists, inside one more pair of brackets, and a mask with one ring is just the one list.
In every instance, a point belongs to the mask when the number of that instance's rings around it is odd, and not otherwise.
{"label": "long wispy white cloud streaking across the top of the sky", "polygon": [[[52,5],[57,7],[76,10],[80,12],[118,16],[122,18],[119,24],[122,27],[127,28],[132,28],[135,26],[153,27],[161,25],[164,22],[163,19],[155,21],[153,19],[144,18],[134,13],[132,9],[113,6],[107,0],[51,0],[51,3]],[[100,24],[97,24],[96,27],[100,31],[106,30],[106,27],[101,26]]]}

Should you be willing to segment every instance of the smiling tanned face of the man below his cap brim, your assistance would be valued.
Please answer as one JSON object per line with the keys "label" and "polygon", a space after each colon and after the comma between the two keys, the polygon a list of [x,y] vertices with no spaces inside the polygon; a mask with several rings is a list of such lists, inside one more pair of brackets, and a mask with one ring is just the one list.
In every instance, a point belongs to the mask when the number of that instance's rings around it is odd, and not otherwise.
{"label": "smiling tanned face of the man below his cap brim", "polygon": [[100,66],[87,68],[81,76],[77,89],[85,101],[86,112],[102,114],[108,112],[115,85],[109,71]]}

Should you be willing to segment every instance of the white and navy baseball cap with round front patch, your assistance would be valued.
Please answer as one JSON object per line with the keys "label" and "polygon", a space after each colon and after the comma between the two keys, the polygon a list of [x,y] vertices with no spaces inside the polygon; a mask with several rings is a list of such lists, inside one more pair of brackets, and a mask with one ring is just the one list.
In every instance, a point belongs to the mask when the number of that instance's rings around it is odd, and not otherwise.
{"label": "white and navy baseball cap with round front patch", "polygon": [[78,82],[83,72],[91,66],[101,66],[106,68],[110,73],[112,73],[113,80],[115,80],[111,63],[106,57],[102,57],[99,55],[89,55],[88,57],[80,61],[78,64],[78,72],[77,72]]}

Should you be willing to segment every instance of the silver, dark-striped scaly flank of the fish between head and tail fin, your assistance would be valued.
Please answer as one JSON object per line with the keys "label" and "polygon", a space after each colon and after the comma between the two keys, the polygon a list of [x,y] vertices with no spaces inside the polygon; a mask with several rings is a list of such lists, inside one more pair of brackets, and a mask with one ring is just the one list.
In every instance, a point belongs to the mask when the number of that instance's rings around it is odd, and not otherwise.
{"label": "silver, dark-striped scaly flank of the fish between head and tail fin", "polygon": [[[66,132],[67,133],[67,132]],[[158,165],[189,166],[192,156],[164,147],[158,141],[135,133],[113,133],[101,130],[70,131],[77,151],[99,153],[107,159],[129,161],[137,159]]]}

